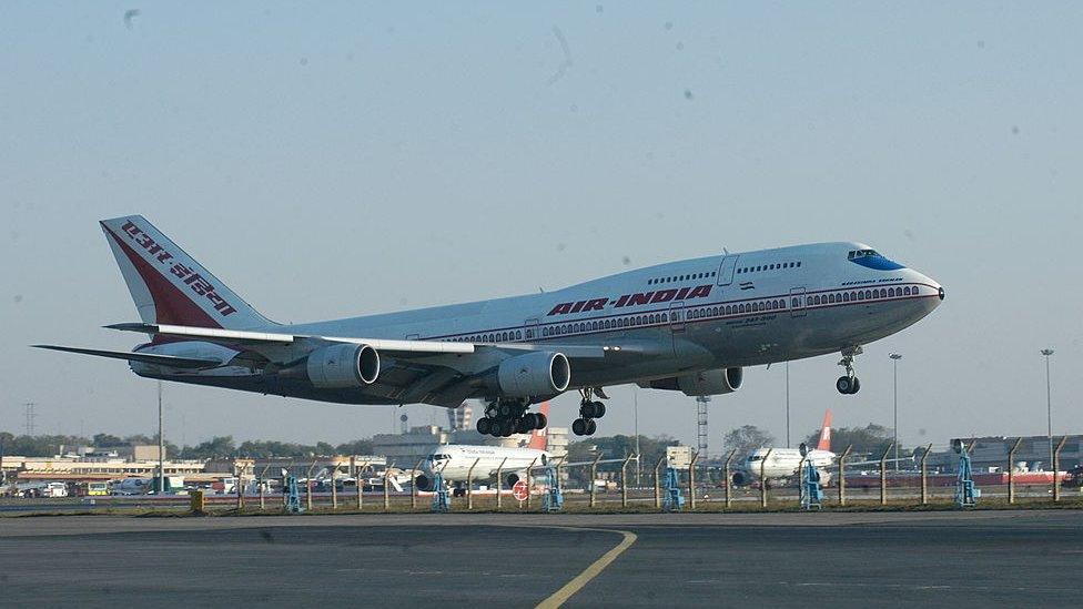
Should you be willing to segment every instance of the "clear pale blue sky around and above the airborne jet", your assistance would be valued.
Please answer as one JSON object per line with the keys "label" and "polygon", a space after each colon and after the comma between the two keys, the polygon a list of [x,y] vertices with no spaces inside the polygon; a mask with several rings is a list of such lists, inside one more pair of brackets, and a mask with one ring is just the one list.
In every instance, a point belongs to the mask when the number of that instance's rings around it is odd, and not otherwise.
{"label": "clear pale blue sky around and above the airborne jet", "polygon": [[[139,14],[125,24],[124,13]],[[1083,8],[1072,3],[8,3],[0,10],[0,428],[146,432],[135,312],[95,222],[142,213],[272,318],[554,288],[630,266],[857,240],[943,283],[922,323],[791,365],[823,409],[907,444],[1083,433]],[[627,258],[627,264],[626,264]],[[630,433],[617,388],[604,434]],[[711,444],[781,437],[780,366],[715,399]],[[170,439],[344,440],[381,407],[168,386]],[[576,399],[554,407],[569,423]],[[691,398],[640,430],[695,439]],[[409,406],[414,423],[442,423]]]}

